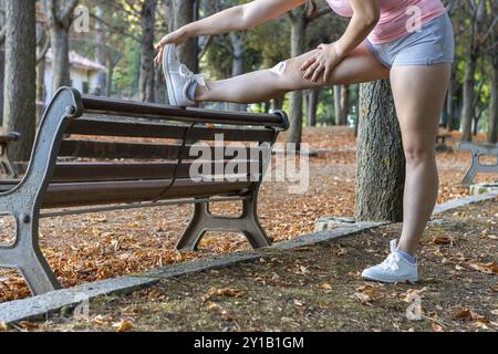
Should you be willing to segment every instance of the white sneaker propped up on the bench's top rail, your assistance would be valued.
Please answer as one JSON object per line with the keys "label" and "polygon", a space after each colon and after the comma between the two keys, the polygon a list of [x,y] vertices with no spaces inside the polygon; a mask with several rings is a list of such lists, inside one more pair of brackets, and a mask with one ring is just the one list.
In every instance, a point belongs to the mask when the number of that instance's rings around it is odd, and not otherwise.
{"label": "white sneaker propped up on the bench's top rail", "polygon": [[164,49],[163,72],[166,79],[169,104],[173,106],[189,107],[196,104],[187,96],[187,90],[193,82],[207,87],[203,75],[195,75],[179,62],[176,56],[175,44],[166,44]]}

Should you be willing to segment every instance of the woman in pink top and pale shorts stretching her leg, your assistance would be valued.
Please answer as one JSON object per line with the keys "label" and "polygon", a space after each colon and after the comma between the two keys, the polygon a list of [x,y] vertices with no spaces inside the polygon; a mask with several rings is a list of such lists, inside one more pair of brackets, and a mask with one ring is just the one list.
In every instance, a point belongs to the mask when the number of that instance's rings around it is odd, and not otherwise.
{"label": "woman in pink top and pale shorts stretching her leg", "polygon": [[416,282],[415,252],[438,191],[434,144],[455,51],[452,23],[439,0],[328,0],[335,12],[351,17],[339,41],[238,77],[204,82],[176,59],[175,45],[190,37],[247,30],[307,2],[255,0],[166,35],[156,61],[164,59],[172,104],[264,102],[294,90],[390,79],[406,156],[404,223],[387,259],[362,277]]}

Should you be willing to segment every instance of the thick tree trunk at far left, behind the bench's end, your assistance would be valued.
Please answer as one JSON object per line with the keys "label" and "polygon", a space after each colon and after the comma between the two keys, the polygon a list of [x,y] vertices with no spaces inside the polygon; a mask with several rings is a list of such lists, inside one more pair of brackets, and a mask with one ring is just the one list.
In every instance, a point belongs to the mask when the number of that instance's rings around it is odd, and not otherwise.
{"label": "thick tree trunk at far left, behind the bench's end", "polygon": [[30,158],[34,140],[37,93],[35,7],[32,0],[6,2],[4,127],[22,138],[12,144],[14,162]]}

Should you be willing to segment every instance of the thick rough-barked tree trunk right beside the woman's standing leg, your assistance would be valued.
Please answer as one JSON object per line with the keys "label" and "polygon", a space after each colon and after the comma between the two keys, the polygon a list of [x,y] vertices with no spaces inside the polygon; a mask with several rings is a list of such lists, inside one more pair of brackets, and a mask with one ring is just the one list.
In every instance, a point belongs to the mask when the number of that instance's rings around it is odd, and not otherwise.
{"label": "thick rough-barked tree trunk right beside the woman's standing leg", "polygon": [[388,82],[362,85],[360,100],[355,217],[402,221],[405,157]]}

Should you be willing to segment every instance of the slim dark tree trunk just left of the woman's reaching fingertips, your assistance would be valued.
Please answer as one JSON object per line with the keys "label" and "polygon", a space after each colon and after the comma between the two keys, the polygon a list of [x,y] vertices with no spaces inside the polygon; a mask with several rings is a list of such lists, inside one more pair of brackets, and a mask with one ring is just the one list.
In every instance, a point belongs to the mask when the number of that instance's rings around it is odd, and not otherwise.
{"label": "slim dark tree trunk just left of the woman's reaching fingertips", "polygon": [[155,102],[154,90],[154,23],[156,18],[157,0],[145,0],[142,7],[142,55],[141,55],[141,76],[139,92],[143,102]]}

